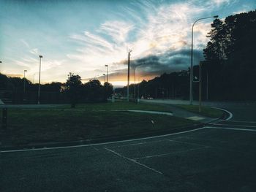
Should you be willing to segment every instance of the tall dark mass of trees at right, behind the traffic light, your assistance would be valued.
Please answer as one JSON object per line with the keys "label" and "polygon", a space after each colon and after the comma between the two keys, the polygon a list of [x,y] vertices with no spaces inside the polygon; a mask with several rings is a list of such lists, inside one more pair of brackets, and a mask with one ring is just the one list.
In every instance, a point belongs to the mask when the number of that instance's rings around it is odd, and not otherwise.
{"label": "tall dark mass of trees at right, behind the traffic light", "polygon": [[203,50],[211,99],[256,99],[256,10],[216,19]]}

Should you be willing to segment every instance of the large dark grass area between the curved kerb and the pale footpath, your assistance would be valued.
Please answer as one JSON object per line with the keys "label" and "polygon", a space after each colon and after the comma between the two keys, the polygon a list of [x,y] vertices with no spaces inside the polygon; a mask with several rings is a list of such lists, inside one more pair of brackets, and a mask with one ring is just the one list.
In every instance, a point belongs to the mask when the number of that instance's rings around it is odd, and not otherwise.
{"label": "large dark grass area between the curved kerb and the pale footpath", "polygon": [[3,144],[25,145],[123,137],[189,124],[195,124],[195,121],[140,112],[9,109]]}

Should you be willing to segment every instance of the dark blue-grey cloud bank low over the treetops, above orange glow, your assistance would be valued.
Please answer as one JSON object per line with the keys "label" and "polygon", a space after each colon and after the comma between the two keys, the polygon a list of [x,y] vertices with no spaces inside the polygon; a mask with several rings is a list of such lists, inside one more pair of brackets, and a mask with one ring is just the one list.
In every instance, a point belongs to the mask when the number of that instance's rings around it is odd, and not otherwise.
{"label": "dark blue-grey cloud bank low over the treetops, above orange glow", "polygon": [[[190,66],[191,50],[176,50],[168,51],[159,55],[148,55],[144,58],[138,58],[130,61],[130,74],[134,74],[136,66],[136,73],[143,77],[155,77],[163,73],[178,72],[187,70]],[[193,62],[197,65],[199,61],[203,60],[202,50],[194,50]],[[117,65],[126,65],[127,61],[121,61]],[[114,67],[113,67],[114,69]],[[121,80],[127,77],[127,69],[112,70],[109,74],[112,80]],[[103,77],[102,77],[103,78]]]}

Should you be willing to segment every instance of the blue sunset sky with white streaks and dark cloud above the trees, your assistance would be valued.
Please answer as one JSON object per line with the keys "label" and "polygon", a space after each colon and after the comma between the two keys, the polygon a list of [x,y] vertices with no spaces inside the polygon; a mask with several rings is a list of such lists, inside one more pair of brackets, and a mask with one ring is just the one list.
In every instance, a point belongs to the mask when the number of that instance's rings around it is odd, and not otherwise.
{"label": "blue sunset sky with white streaks and dark cloud above the trees", "polygon": [[[198,18],[248,12],[256,0],[0,0],[0,72],[38,82],[66,82],[69,72],[83,82],[127,85],[164,72],[186,70],[190,64],[191,27]],[[203,60],[212,18],[194,28],[194,63]],[[133,76],[133,77],[132,77]]]}

